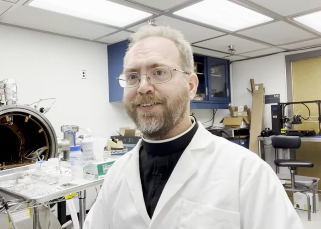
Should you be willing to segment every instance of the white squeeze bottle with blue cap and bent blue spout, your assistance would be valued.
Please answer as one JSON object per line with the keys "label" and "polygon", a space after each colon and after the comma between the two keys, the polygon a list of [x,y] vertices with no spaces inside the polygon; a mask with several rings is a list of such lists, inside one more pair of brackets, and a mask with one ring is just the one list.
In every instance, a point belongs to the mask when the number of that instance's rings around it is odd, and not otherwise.
{"label": "white squeeze bottle with blue cap and bent blue spout", "polygon": [[82,156],[81,146],[76,145],[76,135],[74,131],[67,130],[65,132],[72,132],[74,137],[74,145],[70,146],[71,175],[73,179],[83,178],[83,172],[82,172],[83,156]]}

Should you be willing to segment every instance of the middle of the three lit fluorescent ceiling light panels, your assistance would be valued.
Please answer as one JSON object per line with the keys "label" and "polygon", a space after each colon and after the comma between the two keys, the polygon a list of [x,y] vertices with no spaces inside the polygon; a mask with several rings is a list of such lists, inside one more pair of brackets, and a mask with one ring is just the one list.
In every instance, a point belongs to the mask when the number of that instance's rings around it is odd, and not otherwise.
{"label": "middle of the three lit fluorescent ceiling light panels", "polygon": [[174,14],[229,31],[273,21],[273,18],[227,0],[204,0]]}

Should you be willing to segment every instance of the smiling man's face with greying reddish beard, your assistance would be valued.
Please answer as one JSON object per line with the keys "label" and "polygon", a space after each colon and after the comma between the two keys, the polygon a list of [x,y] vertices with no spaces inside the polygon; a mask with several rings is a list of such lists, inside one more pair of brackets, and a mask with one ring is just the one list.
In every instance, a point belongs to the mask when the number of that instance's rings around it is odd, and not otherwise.
{"label": "smiling man's face with greying reddish beard", "polygon": [[[160,37],[137,42],[124,60],[124,72],[146,74],[155,67],[164,66],[182,70],[175,43]],[[124,89],[126,111],[144,137],[166,136],[189,114],[189,76],[177,71],[171,71],[171,74],[171,80],[161,84],[151,84],[146,75],[142,75],[138,86]]]}

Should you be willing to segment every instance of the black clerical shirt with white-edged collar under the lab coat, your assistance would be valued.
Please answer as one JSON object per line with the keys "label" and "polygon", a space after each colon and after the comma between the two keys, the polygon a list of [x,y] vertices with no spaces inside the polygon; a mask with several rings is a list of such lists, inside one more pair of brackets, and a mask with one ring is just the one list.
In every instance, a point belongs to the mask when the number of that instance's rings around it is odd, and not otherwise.
{"label": "black clerical shirt with white-edged collar under the lab coat", "polygon": [[142,140],[139,171],[146,210],[151,218],[170,174],[197,131],[198,123],[193,117],[192,121],[191,129],[174,140]]}

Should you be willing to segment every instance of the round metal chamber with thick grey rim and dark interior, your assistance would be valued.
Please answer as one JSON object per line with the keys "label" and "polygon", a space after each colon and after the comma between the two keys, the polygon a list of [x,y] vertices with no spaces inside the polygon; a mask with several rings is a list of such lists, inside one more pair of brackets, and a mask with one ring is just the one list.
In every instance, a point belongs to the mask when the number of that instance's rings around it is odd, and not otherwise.
{"label": "round metal chamber with thick grey rim and dark interior", "polygon": [[24,105],[0,106],[0,169],[57,157],[56,133],[38,110]]}

